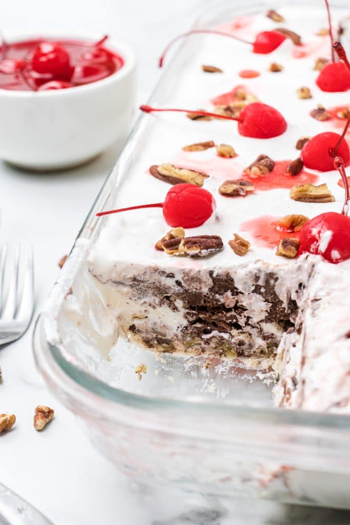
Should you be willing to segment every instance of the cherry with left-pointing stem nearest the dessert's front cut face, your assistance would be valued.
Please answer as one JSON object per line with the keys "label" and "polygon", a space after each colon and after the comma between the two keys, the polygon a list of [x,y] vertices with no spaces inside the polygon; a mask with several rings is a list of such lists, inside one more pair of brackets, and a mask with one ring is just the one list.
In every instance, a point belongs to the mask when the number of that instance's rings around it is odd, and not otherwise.
{"label": "cherry with left-pointing stem nearest the dessert's front cut face", "polygon": [[132,209],[163,208],[163,216],[169,226],[173,228],[178,226],[196,228],[208,220],[215,207],[215,199],[210,192],[195,184],[181,183],[170,188],[164,202],[112,209],[107,212],[100,212],[97,216],[127,212]]}

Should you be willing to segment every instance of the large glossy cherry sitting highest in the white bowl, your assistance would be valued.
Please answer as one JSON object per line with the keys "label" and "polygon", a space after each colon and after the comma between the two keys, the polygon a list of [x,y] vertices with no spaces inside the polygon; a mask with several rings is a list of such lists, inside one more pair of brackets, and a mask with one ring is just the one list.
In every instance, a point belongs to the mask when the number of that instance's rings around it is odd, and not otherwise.
{"label": "large glossy cherry sitting highest in the white bowl", "polygon": [[55,79],[70,80],[73,68],[68,51],[54,42],[41,42],[34,51],[31,68],[40,75],[52,75]]}

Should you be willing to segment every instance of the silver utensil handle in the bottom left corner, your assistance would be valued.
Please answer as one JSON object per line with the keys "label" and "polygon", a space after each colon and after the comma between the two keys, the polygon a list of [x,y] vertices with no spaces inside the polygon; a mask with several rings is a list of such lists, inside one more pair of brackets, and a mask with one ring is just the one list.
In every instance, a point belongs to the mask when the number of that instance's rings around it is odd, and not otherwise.
{"label": "silver utensil handle in the bottom left corner", "polygon": [[53,525],[35,507],[0,483],[0,523],[4,525]]}

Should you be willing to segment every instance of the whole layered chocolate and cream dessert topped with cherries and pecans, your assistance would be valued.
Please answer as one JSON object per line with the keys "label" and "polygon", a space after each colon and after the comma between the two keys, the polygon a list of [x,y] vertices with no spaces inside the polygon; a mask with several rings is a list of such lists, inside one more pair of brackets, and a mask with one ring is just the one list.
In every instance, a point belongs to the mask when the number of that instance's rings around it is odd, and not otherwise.
{"label": "whole layered chocolate and cream dessert topped with cherries and pecans", "polygon": [[337,49],[321,3],[193,35],[168,99],[143,107],[124,213],[100,219],[88,257],[120,337],[274,374],[275,404],[337,412],[350,407],[346,20],[334,10]]}

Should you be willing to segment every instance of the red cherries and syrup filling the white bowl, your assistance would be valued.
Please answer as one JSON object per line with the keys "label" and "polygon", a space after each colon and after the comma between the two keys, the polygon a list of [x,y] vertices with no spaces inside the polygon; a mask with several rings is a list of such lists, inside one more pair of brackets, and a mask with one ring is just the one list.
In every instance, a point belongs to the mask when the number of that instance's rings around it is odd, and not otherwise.
{"label": "red cherries and syrup filling the white bowl", "polygon": [[104,47],[107,38],[97,43],[35,39],[7,44],[0,61],[0,89],[65,89],[107,78],[124,64]]}

